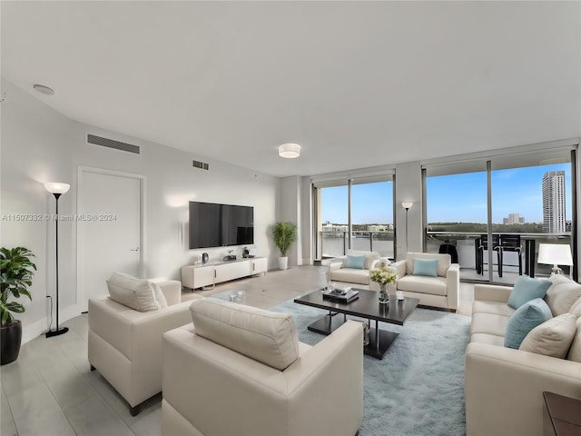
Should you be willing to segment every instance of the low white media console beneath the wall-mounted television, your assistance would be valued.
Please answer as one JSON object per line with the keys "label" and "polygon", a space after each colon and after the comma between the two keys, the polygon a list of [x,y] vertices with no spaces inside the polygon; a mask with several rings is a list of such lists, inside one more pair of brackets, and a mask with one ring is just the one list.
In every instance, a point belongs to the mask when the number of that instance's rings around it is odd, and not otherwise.
{"label": "low white media console beneath the wall-mounted television", "polygon": [[185,265],[182,266],[182,285],[190,289],[208,287],[249,275],[266,273],[267,269],[266,257]]}

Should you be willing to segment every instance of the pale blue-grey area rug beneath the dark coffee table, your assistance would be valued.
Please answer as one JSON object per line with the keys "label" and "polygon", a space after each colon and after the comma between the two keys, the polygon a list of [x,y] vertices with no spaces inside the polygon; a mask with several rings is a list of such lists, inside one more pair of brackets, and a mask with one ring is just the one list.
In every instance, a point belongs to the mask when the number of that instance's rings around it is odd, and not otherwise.
{"label": "pale blue-grey area rug beneath the dark coffee table", "polygon": [[[228,299],[230,292],[214,295]],[[271,308],[290,313],[300,342],[325,336],[307,326],[325,311],[289,300]],[[404,326],[379,322],[399,332],[383,360],[364,356],[363,424],[359,436],[456,436],[466,434],[464,351],[470,318],[418,308]]]}

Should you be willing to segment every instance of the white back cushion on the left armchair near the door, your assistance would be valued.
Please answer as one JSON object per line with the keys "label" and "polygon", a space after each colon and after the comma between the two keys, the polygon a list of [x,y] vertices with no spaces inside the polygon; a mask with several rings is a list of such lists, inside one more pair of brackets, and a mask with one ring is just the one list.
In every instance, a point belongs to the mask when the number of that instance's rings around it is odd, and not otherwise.
{"label": "white back cushion on the left armchair near the door", "polygon": [[[153,283],[145,279],[138,279],[123,272],[113,272],[107,280],[107,288],[114,302],[135,311],[150,312],[162,308],[155,297]],[[167,306],[167,303],[165,305]]]}

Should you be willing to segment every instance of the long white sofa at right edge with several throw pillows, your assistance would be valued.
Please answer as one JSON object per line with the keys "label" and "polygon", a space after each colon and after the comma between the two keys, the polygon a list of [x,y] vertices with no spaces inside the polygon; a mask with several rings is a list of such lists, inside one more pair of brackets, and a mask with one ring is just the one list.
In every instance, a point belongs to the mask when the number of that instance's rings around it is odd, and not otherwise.
{"label": "long white sofa at right edge with several throw pillows", "polygon": [[[555,286],[554,283],[551,288]],[[566,306],[556,312],[548,295],[559,298],[559,293],[564,292],[551,288],[545,300],[557,315]],[[511,291],[506,286],[474,286],[464,383],[468,436],[542,436],[547,424],[543,391],[581,400],[581,320],[576,322],[574,339],[578,362],[568,360],[573,358],[571,352],[566,359],[559,359],[505,348],[507,323],[515,312],[507,305]],[[581,315],[581,298],[577,301],[576,305],[566,305],[571,306],[569,311]]]}

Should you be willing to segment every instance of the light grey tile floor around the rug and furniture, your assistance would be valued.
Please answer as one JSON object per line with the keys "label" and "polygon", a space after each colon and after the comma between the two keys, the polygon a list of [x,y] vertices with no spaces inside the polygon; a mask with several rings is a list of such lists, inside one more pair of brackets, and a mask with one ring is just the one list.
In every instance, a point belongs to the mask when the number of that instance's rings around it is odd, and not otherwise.
{"label": "light grey tile floor around the rug and furniture", "polygon": [[[268,309],[325,283],[325,268],[294,267],[217,285],[202,295],[242,290],[246,304]],[[470,314],[473,285],[460,284],[458,313]],[[183,299],[191,297],[185,291]],[[0,367],[0,435],[110,436],[161,434],[162,394],[133,417],[123,398],[87,361],[87,315],[62,324],[69,332],[25,343],[18,360]]]}

